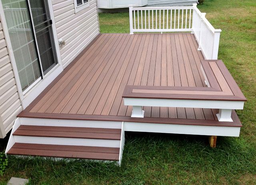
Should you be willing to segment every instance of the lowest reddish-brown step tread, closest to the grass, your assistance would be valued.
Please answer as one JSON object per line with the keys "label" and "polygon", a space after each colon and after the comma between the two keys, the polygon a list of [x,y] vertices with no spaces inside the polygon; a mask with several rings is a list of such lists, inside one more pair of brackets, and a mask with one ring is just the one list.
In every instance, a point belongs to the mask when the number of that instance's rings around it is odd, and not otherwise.
{"label": "lowest reddish-brown step tread, closest to the grass", "polygon": [[[118,151],[118,153],[117,153]],[[114,153],[113,153],[114,152]],[[118,161],[119,149],[107,147],[81,147],[67,145],[16,143],[7,152],[10,155],[31,155],[41,157],[63,157]]]}

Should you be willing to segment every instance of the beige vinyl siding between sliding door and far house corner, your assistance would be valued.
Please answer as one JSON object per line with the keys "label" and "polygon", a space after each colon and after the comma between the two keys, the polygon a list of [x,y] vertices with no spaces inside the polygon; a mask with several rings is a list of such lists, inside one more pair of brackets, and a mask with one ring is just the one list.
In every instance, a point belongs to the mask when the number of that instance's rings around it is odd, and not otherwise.
{"label": "beige vinyl siding between sliding door and far house corner", "polygon": [[64,67],[100,33],[96,0],[89,4],[75,13],[74,0],[52,0],[57,37],[66,42],[60,47]]}

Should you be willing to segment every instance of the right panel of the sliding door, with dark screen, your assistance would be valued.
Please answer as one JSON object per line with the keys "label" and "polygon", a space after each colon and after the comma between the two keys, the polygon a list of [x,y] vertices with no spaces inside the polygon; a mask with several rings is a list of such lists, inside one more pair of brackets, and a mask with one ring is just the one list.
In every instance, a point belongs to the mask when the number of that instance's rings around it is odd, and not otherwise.
{"label": "right panel of the sliding door, with dark screen", "polygon": [[45,75],[57,64],[52,33],[52,20],[50,19],[47,0],[30,0],[29,2],[42,70]]}

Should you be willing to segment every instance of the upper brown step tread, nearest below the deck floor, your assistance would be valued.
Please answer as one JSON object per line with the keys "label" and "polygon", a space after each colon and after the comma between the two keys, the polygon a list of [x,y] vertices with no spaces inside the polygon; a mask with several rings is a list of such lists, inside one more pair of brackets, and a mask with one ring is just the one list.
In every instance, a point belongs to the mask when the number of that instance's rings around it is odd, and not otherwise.
{"label": "upper brown step tread, nearest below the deck floor", "polygon": [[14,136],[120,140],[121,129],[20,125]]}

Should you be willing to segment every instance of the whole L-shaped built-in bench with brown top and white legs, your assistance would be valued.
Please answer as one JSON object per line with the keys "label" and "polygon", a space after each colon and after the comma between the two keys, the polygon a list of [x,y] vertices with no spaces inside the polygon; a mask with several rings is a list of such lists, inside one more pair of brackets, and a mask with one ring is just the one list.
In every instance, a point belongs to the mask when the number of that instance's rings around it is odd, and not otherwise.
{"label": "whole L-shaped built-in bench with brown top and white legs", "polygon": [[243,109],[246,98],[221,60],[201,64],[207,87],[126,86],[124,105],[137,118],[144,117],[143,106],[216,108],[219,121],[232,122],[232,110]]}

